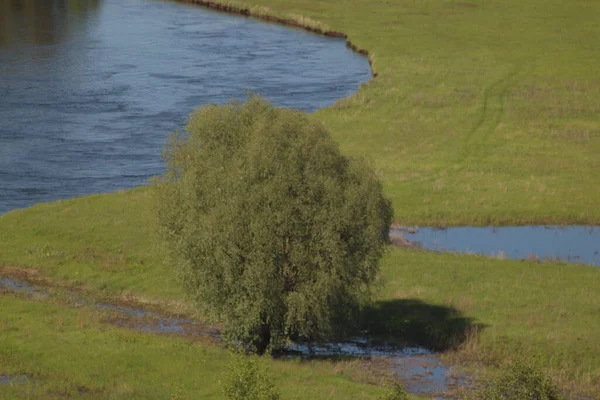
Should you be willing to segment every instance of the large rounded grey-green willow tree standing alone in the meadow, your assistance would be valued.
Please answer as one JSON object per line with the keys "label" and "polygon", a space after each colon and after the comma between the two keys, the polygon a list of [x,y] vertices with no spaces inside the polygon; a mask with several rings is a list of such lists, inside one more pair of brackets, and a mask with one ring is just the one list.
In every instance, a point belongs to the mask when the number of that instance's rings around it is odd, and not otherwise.
{"label": "large rounded grey-green willow tree standing alone in the meadow", "polygon": [[194,112],[154,184],[186,292],[260,353],[355,327],[388,243],[373,170],[325,127],[255,96]]}

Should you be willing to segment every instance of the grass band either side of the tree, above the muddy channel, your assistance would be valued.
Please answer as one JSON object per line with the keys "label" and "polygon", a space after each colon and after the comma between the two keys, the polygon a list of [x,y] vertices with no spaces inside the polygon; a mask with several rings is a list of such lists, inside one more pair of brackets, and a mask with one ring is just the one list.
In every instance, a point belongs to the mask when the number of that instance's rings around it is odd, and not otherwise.
{"label": "grass band either side of the tree, above the muddy channel", "polygon": [[[0,265],[185,310],[154,245],[149,196],[136,189],[1,216]],[[372,333],[437,348],[477,374],[538,358],[564,389],[600,397],[600,269],[391,249],[383,272],[365,321]]]}

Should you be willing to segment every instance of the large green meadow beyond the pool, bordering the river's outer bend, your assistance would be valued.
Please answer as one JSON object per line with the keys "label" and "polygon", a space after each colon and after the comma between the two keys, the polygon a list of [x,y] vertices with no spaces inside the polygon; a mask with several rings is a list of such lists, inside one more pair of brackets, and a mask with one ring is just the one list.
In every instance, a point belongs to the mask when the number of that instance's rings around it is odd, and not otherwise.
{"label": "large green meadow beyond the pool, bordering the river's outer bend", "polygon": [[188,2],[368,50],[377,78],[315,118],[373,161],[400,223],[600,223],[597,2]]}

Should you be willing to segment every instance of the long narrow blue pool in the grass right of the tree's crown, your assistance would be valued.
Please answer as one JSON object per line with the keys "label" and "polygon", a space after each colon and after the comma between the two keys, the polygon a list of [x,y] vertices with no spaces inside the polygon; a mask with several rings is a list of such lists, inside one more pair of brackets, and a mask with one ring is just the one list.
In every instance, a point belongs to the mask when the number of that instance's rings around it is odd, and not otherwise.
{"label": "long narrow blue pool in the grass right of the tree's crown", "polygon": [[600,226],[394,228],[390,236],[432,251],[600,266]]}

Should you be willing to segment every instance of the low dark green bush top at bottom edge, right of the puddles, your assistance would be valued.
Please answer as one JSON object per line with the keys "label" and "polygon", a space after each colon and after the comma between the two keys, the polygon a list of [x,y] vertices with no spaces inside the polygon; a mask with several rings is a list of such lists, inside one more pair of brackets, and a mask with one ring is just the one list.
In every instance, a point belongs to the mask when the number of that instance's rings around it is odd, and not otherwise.
{"label": "low dark green bush top at bottom edge, right of the puddles", "polygon": [[476,400],[562,400],[551,379],[536,365],[512,364],[479,391]]}

